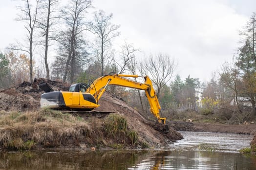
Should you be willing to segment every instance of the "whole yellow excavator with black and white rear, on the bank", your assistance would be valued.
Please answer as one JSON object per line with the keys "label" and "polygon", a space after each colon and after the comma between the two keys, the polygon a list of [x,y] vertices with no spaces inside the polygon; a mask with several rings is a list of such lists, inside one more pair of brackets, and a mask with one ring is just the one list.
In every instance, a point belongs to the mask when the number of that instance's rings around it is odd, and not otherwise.
{"label": "whole yellow excavator with black and white rear, on the bank", "polygon": [[[143,77],[145,82],[139,83],[125,77]],[[159,122],[165,124],[166,118],[160,117],[160,104],[149,76],[112,74],[99,77],[90,85],[78,83],[71,85],[69,91],[54,91],[46,83],[39,85],[46,93],[41,95],[42,108],[70,109],[70,110],[93,110],[99,107],[101,96],[106,90],[107,85],[119,85],[124,87],[145,90],[148,98],[150,111]]]}

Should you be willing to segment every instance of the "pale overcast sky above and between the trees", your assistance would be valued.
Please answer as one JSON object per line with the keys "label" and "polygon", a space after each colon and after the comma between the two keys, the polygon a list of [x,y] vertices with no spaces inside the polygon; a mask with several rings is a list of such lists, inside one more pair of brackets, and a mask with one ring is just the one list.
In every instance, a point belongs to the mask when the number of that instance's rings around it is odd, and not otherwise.
{"label": "pale overcast sky above and between the trees", "polygon": [[[24,37],[14,19],[16,2],[0,0],[0,51]],[[61,1],[61,0],[60,0]],[[124,40],[143,55],[169,54],[178,63],[175,74],[209,81],[225,62],[233,59],[256,0],[93,0],[94,10],[113,13]]]}

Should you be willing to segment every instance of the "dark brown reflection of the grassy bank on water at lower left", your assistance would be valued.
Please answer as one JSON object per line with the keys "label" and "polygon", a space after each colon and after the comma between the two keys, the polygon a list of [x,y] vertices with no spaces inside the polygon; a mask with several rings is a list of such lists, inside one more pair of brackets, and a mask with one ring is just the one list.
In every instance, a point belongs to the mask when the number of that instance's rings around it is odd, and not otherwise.
{"label": "dark brown reflection of the grassy bank on water at lower left", "polygon": [[127,170],[148,152],[25,152],[0,153],[0,169]]}

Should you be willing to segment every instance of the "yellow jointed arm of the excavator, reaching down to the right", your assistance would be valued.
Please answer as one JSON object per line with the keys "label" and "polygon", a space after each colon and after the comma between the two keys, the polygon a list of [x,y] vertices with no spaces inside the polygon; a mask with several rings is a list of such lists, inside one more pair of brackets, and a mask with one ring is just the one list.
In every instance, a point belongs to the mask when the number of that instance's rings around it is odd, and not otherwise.
{"label": "yellow jointed arm of the excavator, reaching down to the right", "polygon": [[135,88],[139,90],[145,90],[146,97],[148,98],[150,105],[150,112],[158,119],[159,122],[165,124],[166,118],[160,117],[160,104],[157,99],[155,90],[153,88],[152,82],[149,79],[149,76],[143,76],[145,82],[139,83],[132,80],[129,80],[124,77],[142,77],[138,75],[124,75],[124,74],[113,74],[105,75],[96,79],[87,89],[86,92],[93,95],[96,102],[100,100],[101,96],[106,90],[107,85],[119,85],[124,87]]}

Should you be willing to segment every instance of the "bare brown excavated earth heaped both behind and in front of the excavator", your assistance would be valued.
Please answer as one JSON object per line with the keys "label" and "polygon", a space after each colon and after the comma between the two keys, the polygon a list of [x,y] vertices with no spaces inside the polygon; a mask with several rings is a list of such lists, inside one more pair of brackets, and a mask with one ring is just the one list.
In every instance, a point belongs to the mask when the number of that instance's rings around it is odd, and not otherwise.
{"label": "bare brown excavated earth heaped both behind and in front of the excavator", "polygon": [[[61,82],[46,79],[35,79],[34,82],[23,82],[16,87],[0,90],[0,111],[36,111],[40,109],[40,96],[43,90],[38,88],[38,84],[47,82],[54,90],[68,90],[69,85]],[[182,139],[183,136],[175,131],[173,127],[161,125],[145,119],[141,114],[128,106],[126,102],[113,97],[111,93],[105,92],[100,102],[100,107],[96,108],[93,115],[101,119],[107,113],[120,114],[127,119],[129,129],[136,131],[140,138],[146,141],[151,147],[168,146],[172,141]],[[87,119],[88,114],[79,114],[83,119]]]}

